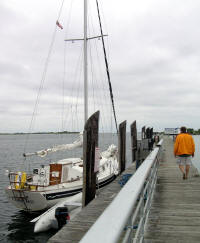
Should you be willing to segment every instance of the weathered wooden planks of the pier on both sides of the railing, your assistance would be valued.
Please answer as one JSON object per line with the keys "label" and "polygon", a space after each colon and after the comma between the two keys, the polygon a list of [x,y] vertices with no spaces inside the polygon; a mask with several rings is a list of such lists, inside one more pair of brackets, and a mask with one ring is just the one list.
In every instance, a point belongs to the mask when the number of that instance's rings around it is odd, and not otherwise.
{"label": "weathered wooden planks of the pier on both sides of the railing", "polygon": [[[145,243],[200,242],[199,173],[192,166],[189,178],[183,180],[173,155],[173,144],[172,138],[164,137],[164,156],[158,168],[156,191],[144,233]],[[126,169],[110,185],[101,189],[98,197],[48,242],[79,242],[120,191],[119,180],[123,174],[134,172],[135,164]]]}

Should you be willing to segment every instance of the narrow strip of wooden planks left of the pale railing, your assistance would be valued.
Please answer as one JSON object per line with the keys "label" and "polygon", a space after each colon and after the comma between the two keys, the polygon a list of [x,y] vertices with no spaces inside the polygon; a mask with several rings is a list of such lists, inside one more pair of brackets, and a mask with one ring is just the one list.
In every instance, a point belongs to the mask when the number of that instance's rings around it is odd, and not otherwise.
{"label": "narrow strip of wooden planks left of the pale railing", "polygon": [[57,232],[48,243],[75,243],[79,242],[97,218],[121,190],[119,181],[124,174],[133,174],[135,163],[126,169],[115,181],[99,191],[99,195],[82,209],[76,217]]}

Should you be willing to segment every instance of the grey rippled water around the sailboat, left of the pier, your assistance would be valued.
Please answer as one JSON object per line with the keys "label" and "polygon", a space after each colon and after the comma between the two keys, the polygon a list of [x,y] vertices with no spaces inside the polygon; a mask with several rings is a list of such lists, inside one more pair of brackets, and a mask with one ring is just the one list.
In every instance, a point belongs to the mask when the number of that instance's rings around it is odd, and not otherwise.
{"label": "grey rippled water around the sailboat, left of the pier", "polygon": [[[27,152],[34,152],[43,148],[52,147],[55,144],[70,143],[77,139],[77,134],[60,135],[31,135],[27,146]],[[23,160],[25,135],[0,135],[0,242],[3,243],[43,243],[56,233],[55,230],[34,234],[34,224],[30,220],[37,215],[30,215],[15,208],[8,200],[4,188],[8,185],[8,178],[5,170],[21,170],[23,166],[32,170],[33,168],[45,164],[49,161],[56,161],[66,157],[81,156],[81,150],[70,152],[58,152],[43,159],[39,157]],[[99,144],[104,150],[111,143],[117,144],[117,137],[110,134],[100,135]],[[130,135],[127,136],[127,161],[130,163]],[[34,163],[33,163],[34,162]],[[31,165],[30,165],[31,164]]]}

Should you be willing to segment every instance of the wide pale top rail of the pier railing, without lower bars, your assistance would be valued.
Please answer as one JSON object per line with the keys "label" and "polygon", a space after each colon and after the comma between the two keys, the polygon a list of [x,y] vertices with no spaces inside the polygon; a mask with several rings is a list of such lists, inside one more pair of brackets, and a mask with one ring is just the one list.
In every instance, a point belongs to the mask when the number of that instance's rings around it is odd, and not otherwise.
{"label": "wide pale top rail of the pier railing, without lower bars", "polygon": [[114,243],[118,242],[121,233],[133,214],[133,210],[137,205],[137,200],[141,192],[143,192],[147,177],[151,171],[154,162],[157,162],[157,155],[162,145],[149,154],[149,156],[140,165],[139,169],[129,179],[126,185],[121,189],[112,203],[105,209],[97,221],[92,225],[88,232],[84,235],[81,243]]}

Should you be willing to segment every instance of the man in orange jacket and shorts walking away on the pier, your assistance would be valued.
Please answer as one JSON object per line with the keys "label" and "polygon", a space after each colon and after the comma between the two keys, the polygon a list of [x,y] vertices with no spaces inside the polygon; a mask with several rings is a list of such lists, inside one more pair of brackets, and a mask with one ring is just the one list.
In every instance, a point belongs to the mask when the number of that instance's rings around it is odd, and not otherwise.
{"label": "man in orange jacket and shorts walking away on the pier", "polygon": [[180,132],[174,143],[174,156],[177,157],[177,164],[185,180],[189,175],[192,164],[191,156],[194,157],[195,144],[193,137],[187,133],[186,127],[181,127]]}

